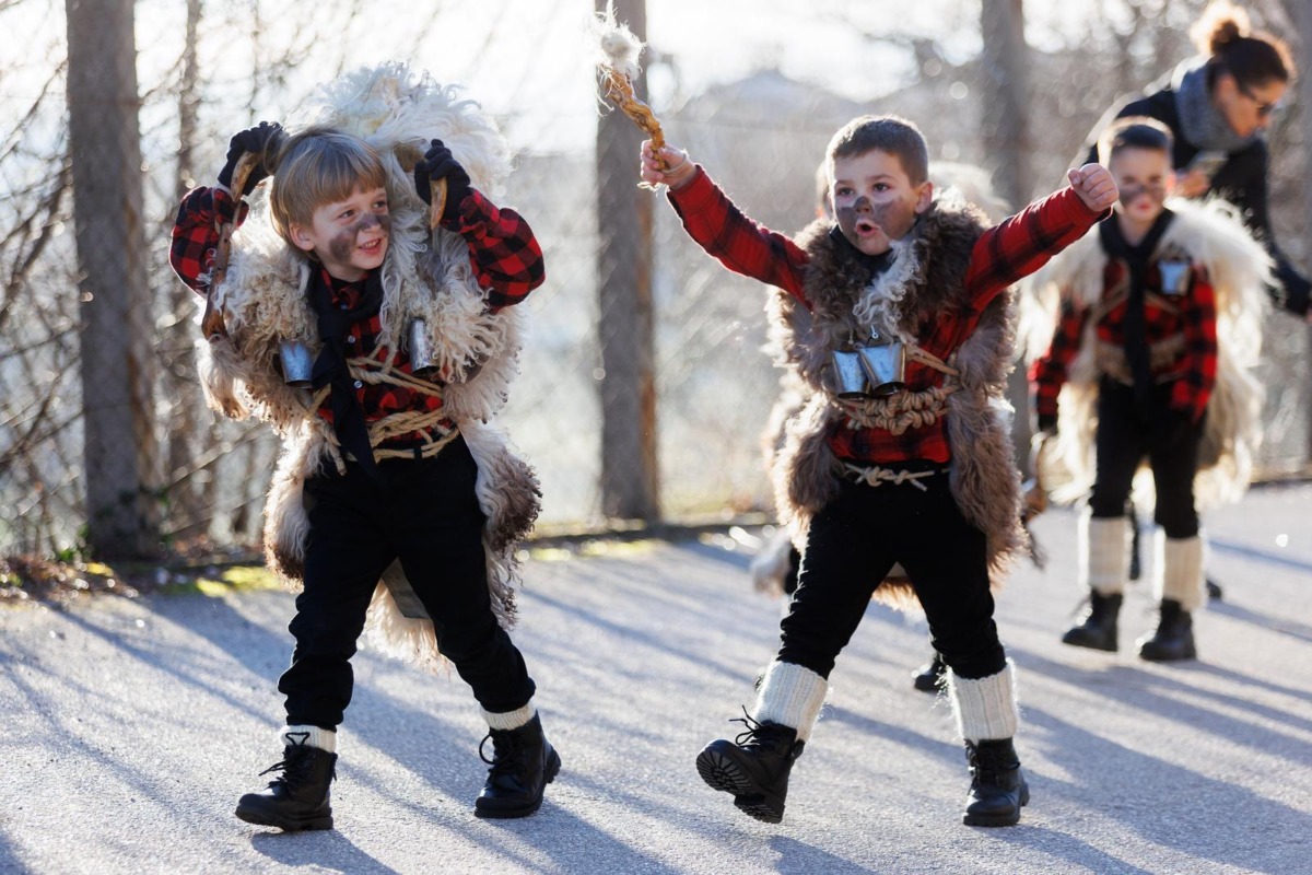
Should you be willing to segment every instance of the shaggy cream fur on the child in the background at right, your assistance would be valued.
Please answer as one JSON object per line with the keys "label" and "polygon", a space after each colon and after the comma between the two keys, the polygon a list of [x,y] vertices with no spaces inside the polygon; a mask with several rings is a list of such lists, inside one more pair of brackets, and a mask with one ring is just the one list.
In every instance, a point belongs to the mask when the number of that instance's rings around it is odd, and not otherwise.
{"label": "shaggy cream fur on the child in the background at right", "polygon": [[[1216,386],[1207,403],[1194,479],[1198,505],[1208,508],[1239,501],[1252,478],[1265,396],[1252,369],[1261,354],[1270,306],[1265,289],[1271,282],[1271,258],[1224,201],[1170,199],[1166,206],[1176,218],[1158,252],[1170,248],[1187,253],[1207,270],[1216,293]],[[1102,299],[1106,264],[1107,254],[1092,231],[1025,281],[1021,331],[1029,361],[1047,352],[1065,302],[1089,308]],[[1090,342],[1094,328],[1086,328],[1061,388],[1055,451],[1044,454],[1044,480],[1052,484],[1059,501],[1076,501],[1093,485],[1099,379],[1096,344]],[[1151,501],[1151,478],[1139,478],[1135,493]]]}

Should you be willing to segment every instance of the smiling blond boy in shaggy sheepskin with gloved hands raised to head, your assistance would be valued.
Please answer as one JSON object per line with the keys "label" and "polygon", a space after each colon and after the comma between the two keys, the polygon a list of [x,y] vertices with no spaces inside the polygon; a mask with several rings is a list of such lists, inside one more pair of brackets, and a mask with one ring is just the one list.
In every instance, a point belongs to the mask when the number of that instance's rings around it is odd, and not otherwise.
{"label": "smiling blond boy in shaggy sheepskin with gloved hands raised to head", "polygon": [[[268,123],[234,136],[219,186],[178,211],[172,264],[226,327],[202,345],[207,399],[282,436],[265,548],[303,586],[278,682],[283,758],[241,798],[241,820],[332,828],[336,729],[366,617],[384,649],[449,659],[472,687],[493,745],[478,816],[533,813],[560,767],[505,631],[538,484],[487,425],[517,369],[514,304],[543,281],[533,231],[482,193],[508,171],[475,104],[383,66],[324,87],[291,136]],[[272,193],[248,215],[241,197],[265,176]],[[445,206],[429,203],[436,192]],[[210,289],[226,223],[241,227]],[[302,350],[308,387],[279,373]]]}

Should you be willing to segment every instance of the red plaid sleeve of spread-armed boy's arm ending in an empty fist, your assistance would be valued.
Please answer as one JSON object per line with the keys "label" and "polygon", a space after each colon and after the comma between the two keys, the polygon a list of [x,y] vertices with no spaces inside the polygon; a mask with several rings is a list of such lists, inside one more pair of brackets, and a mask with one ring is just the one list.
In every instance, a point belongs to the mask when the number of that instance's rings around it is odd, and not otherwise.
{"label": "red plaid sleeve of spread-armed boy's arm ending in an empty fist", "polygon": [[985,231],[975,243],[966,273],[975,308],[983,310],[1000,291],[1042,268],[1109,215],[1110,210],[1093,213],[1075,189],[1064,188]]}

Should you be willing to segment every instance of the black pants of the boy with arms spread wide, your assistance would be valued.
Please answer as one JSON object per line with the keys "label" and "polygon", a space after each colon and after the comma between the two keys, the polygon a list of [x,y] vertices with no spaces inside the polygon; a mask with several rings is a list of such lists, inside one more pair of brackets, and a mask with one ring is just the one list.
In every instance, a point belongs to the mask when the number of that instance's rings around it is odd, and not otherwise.
{"label": "black pants of the boy with arms spread wide", "polygon": [[1005,668],[984,533],[962,517],[946,474],[921,483],[928,491],[844,481],[838,497],[811,521],[798,592],[781,624],[781,662],[829,677],[875,586],[901,563],[925,609],[934,649],[953,670],[980,678]]}

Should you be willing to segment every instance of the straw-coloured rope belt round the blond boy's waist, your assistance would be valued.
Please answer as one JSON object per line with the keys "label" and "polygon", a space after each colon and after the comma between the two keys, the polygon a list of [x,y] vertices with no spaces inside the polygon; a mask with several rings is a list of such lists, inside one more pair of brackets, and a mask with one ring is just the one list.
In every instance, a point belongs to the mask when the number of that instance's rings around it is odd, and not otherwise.
{"label": "straw-coloured rope belt round the blond boy's waist", "polygon": [[[430,383],[425,379],[420,379],[411,374],[394,370],[396,362],[396,354],[392,353],[386,362],[379,362],[369,357],[357,357],[346,359],[346,366],[350,369],[350,375],[370,386],[378,386],[386,383],[388,386],[399,386],[408,388],[422,395],[429,395],[433,397],[442,397],[442,387]],[[324,399],[328,397],[329,387],[323,387],[314,396],[314,407],[318,409]],[[337,441],[337,433],[333,430],[332,425],[323,417],[316,416],[316,425],[319,432],[328,439],[328,451],[332,455],[333,464],[337,467],[337,474],[346,472],[346,460],[341,455],[341,445]],[[461,432],[454,424],[447,422],[446,412],[442,408],[436,411],[398,411],[396,413],[390,413],[384,417],[374,420],[367,424],[369,429],[369,445],[374,450],[374,459],[428,459],[446,447],[447,443],[459,437]],[[394,449],[379,449],[379,445],[391,438],[400,437],[403,434],[412,434],[419,432],[422,436],[422,443],[407,450],[394,450]]]}

